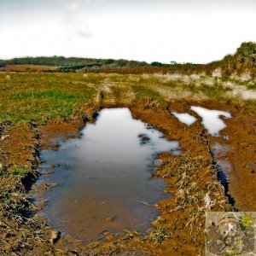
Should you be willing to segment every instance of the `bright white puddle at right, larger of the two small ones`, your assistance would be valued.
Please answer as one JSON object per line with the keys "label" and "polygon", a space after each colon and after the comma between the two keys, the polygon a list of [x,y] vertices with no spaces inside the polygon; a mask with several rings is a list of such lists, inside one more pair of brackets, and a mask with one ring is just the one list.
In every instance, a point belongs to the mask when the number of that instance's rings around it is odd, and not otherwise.
{"label": "bright white puddle at right, larger of the two small ones", "polygon": [[231,118],[230,113],[225,111],[211,110],[195,106],[191,107],[191,109],[201,116],[202,124],[212,136],[219,136],[218,132],[226,127],[224,121],[220,119],[220,116],[227,119]]}

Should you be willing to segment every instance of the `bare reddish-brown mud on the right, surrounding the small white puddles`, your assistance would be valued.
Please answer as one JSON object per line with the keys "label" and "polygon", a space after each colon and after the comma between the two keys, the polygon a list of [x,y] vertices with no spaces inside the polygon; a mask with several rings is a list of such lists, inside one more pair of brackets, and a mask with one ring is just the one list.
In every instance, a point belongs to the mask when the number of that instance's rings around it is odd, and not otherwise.
{"label": "bare reddish-brown mud on the right, surrounding the small white puddles", "polygon": [[230,119],[224,119],[227,126],[220,131],[220,137],[207,136],[207,140],[211,149],[214,149],[218,143],[218,150],[215,150],[216,155],[213,155],[213,158],[217,163],[220,162],[220,167],[224,165],[234,207],[241,212],[255,211],[255,115],[249,114],[247,109],[236,108],[228,102],[187,102],[183,107],[176,103],[171,104],[177,111],[190,113],[200,120],[201,117],[190,109],[191,105],[224,110],[231,114]]}

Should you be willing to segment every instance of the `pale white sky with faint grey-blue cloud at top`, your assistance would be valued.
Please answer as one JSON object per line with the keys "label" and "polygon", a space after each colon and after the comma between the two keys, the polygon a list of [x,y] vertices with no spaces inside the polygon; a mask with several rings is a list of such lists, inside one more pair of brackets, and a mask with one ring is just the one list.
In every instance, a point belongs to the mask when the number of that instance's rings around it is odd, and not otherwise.
{"label": "pale white sky with faint grey-blue cloud at top", "polygon": [[256,0],[0,0],[0,59],[208,63],[256,42]]}

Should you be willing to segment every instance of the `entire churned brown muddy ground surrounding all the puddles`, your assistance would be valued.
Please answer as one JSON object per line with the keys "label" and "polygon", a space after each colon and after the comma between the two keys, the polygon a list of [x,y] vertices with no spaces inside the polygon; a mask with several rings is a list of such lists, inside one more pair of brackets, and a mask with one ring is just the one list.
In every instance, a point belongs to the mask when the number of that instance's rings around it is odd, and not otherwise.
{"label": "entire churned brown muddy ground surrounding all the puddles", "polygon": [[[221,131],[229,140],[207,135],[191,105],[230,111],[232,119],[224,120],[227,127]],[[166,192],[172,194],[154,206],[160,216],[146,236],[136,230],[124,230],[119,235],[105,232],[99,241],[84,244],[49,229],[27,192],[40,175],[40,150],[57,149],[61,140],[78,137],[80,129],[86,122],[93,122],[94,114],[102,107],[130,108],[133,118],[163,131],[167,139],[177,140],[183,154],[159,155],[162,161],[154,176],[164,178]],[[89,109],[88,116],[73,116],[73,120],[57,124],[1,125],[1,255],[204,255],[206,211],[256,211],[256,118],[246,110],[210,101],[175,101],[162,107],[148,100],[123,106],[102,102],[84,108]],[[171,110],[190,113],[198,120],[184,125]],[[215,143],[224,146],[218,154],[212,154]],[[230,162],[230,183],[219,181],[218,160]],[[51,186],[45,184],[44,189]]]}

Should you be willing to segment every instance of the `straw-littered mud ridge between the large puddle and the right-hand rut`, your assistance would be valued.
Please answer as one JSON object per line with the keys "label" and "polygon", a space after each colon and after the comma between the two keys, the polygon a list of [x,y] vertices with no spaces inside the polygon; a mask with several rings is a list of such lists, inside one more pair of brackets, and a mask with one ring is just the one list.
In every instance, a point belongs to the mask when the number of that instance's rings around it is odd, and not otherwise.
{"label": "straw-littered mud ridge between the large puddle and the right-hand rut", "polygon": [[[183,108],[195,115],[189,111],[186,102],[175,102],[169,108],[174,106],[178,112]],[[194,255],[204,252],[205,212],[227,211],[230,205],[224,188],[218,182],[218,170],[200,121],[190,126],[184,125],[170,113],[169,108],[152,109],[142,105],[131,108],[131,112],[181,145],[181,156],[160,155],[162,164],[154,175],[165,179],[166,188],[173,196],[155,206],[162,215],[154,224],[157,229],[161,227],[170,231],[170,238],[160,244],[158,253]]]}

